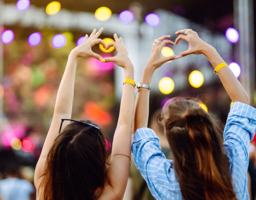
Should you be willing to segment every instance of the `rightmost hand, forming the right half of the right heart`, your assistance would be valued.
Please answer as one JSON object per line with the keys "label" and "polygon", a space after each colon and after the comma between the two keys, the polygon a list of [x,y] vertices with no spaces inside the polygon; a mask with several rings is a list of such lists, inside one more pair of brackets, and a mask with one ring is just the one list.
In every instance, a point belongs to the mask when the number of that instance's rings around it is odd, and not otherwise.
{"label": "rightmost hand, forming the right half of the right heart", "polygon": [[[180,35],[180,34],[185,35]],[[193,31],[192,29],[183,29],[179,30],[175,33],[179,35],[176,38],[175,44],[178,44],[180,40],[185,40],[189,43],[188,50],[180,53],[181,56],[187,56],[189,54],[205,54],[205,48],[209,46],[206,42],[204,42],[197,34],[197,32]]]}

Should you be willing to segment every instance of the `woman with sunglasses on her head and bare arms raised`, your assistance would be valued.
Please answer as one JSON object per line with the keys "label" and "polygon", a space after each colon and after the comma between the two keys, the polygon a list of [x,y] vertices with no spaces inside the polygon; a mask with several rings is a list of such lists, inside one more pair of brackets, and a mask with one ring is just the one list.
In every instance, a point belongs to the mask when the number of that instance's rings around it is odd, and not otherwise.
{"label": "woman with sunglasses on her head and bare arms raised", "polygon": [[[57,93],[53,120],[35,170],[37,199],[81,200],[122,199],[130,171],[131,128],[134,114],[133,65],[122,38],[114,34],[115,42],[106,46],[98,39],[103,28],[93,30],[84,43],[74,48],[69,57]],[[102,59],[91,50],[95,44],[117,56]],[[111,157],[107,136],[90,120],[72,120],[72,103],[76,65],[79,57],[94,57],[112,61],[124,68],[124,89],[120,114],[114,134]]]}

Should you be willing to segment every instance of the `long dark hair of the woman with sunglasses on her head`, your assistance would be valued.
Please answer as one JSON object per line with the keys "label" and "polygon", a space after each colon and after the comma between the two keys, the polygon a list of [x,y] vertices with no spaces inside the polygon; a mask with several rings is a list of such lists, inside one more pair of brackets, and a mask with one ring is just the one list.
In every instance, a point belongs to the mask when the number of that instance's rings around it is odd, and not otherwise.
{"label": "long dark hair of the woman with sunglasses on her head", "polygon": [[[91,123],[86,120],[84,122]],[[39,199],[96,199],[96,189],[102,192],[107,181],[106,166],[109,151],[106,134],[101,129],[74,122],[55,139],[46,160],[40,184]],[[97,190],[98,191],[98,190]]]}

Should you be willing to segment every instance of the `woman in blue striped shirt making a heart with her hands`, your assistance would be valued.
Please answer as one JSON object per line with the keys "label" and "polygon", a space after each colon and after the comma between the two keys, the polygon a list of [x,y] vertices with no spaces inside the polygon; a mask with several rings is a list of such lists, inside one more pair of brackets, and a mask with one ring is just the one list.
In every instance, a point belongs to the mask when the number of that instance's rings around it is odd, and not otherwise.
{"label": "woman in blue striped shirt making a heart with her hands", "polygon": [[[138,84],[142,87],[135,101],[134,162],[156,199],[249,199],[248,149],[255,134],[256,109],[248,105],[247,93],[212,46],[191,29],[180,30],[176,34],[184,35],[180,35],[175,44],[185,40],[189,49],[172,59],[204,54],[234,103],[223,133],[220,123],[196,101],[175,98],[167,102],[161,122],[174,160],[166,159],[155,132],[145,128],[148,123],[149,85],[154,71],[164,63],[161,49],[167,43],[164,39],[170,36],[158,38],[143,70],[141,84]],[[174,45],[172,42],[169,44]]]}

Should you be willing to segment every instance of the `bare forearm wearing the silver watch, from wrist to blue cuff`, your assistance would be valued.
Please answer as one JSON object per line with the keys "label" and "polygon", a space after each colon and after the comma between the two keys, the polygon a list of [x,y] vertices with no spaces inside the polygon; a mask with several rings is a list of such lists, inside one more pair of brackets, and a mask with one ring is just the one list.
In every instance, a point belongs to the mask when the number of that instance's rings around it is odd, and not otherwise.
{"label": "bare forearm wearing the silver watch, from wrist to blue cuff", "polygon": [[[146,65],[141,76],[140,82],[143,84],[150,85],[154,70],[150,65]],[[133,133],[138,128],[148,126],[148,115],[149,115],[149,94],[150,90],[146,88],[139,88],[135,100],[135,117],[133,124]]]}

